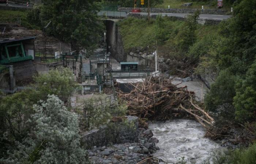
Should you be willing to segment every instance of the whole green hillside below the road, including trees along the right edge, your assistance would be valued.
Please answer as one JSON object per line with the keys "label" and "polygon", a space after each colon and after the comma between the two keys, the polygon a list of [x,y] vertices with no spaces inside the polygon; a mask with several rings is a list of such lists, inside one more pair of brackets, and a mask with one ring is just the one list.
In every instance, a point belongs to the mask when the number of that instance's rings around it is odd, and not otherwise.
{"label": "whole green hillside below the road, including trees along the right edge", "polygon": [[[132,47],[157,48],[159,55],[175,59],[181,68],[190,67],[196,74],[206,70],[217,73],[206,95],[206,110],[219,111],[229,104],[223,120],[244,124],[256,120],[256,1],[234,4],[233,17],[218,25],[196,23],[198,13],[177,21],[158,16],[128,18],[118,24],[126,52]],[[221,125],[222,126],[222,125]],[[253,132],[256,132],[254,125]]]}

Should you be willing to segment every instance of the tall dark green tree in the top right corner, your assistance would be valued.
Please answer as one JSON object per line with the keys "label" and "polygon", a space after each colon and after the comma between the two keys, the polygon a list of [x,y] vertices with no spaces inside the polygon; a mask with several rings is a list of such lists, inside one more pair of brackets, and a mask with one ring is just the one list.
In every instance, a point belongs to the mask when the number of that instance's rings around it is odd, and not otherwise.
{"label": "tall dark green tree in the top right corner", "polygon": [[221,23],[220,35],[227,38],[219,43],[219,66],[243,77],[256,56],[256,1],[240,0],[234,3],[233,17]]}

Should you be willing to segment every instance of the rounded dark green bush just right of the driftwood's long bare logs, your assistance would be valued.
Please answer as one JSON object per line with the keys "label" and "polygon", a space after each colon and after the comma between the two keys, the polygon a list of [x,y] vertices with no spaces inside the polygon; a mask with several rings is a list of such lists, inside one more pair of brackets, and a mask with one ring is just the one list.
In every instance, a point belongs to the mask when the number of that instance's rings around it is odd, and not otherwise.
{"label": "rounded dark green bush just right of the driftwood's long bare logs", "polygon": [[235,82],[236,77],[229,70],[221,71],[216,81],[211,85],[210,92],[206,94],[206,109],[215,111],[219,105],[232,104],[236,94]]}

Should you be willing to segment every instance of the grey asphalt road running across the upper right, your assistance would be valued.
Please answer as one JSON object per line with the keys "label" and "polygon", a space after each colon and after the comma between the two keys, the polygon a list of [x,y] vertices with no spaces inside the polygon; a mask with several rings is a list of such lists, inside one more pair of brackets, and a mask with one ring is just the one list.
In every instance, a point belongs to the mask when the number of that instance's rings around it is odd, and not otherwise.
{"label": "grey asphalt road running across the upper right", "polygon": [[[147,15],[147,12],[140,12],[142,15]],[[150,15],[162,15],[162,16],[177,16],[177,17],[185,17],[186,15],[189,15],[187,13],[154,13],[151,12]],[[202,19],[216,19],[216,20],[223,20],[228,19],[231,17],[231,15],[212,15],[212,14],[200,14],[200,18]]]}

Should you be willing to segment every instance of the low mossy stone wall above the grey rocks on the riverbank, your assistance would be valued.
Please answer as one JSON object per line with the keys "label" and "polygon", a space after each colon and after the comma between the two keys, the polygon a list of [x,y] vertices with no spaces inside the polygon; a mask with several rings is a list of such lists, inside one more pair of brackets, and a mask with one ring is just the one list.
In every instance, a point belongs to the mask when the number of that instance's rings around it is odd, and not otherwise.
{"label": "low mossy stone wall above the grey rocks on the riverbank", "polygon": [[86,148],[91,148],[105,146],[109,143],[121,144],[138,141],[139,119],[133,116],[126,117],[132,126],[116,122],[114,127],[102,126],[99,129],[90,130],[82,134],[81,144]]}

